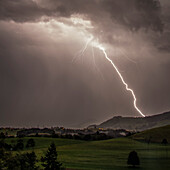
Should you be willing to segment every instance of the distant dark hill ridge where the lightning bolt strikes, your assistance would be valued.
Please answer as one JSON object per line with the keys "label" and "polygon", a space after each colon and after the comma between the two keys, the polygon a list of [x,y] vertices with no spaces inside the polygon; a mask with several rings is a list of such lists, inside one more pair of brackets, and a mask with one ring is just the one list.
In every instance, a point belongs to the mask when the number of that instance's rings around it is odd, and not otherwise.
{"label": "distant dark hill ridge where the lightning bolt strikes", "polygon": [[101,123],[100,125],[97,125],[96,127],[143,131],[165,125],[170,125],[170,112],[136,118],[116,116]]}

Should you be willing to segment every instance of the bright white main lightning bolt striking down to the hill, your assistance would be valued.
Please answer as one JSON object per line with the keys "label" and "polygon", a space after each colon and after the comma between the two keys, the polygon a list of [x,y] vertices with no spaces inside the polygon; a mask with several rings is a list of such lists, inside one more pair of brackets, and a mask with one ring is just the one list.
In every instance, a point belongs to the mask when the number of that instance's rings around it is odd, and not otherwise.
{"label": "bright white main lightning bolt striking down to the hill", "polygon": [[136,105],[137,99],[136,99],[136,96],[135,96],[134,91],[128,87],[128,84],[125,82],[125,80],[124,80],[123,76],[121,75],[121,73],[119,72],[118,68],[117,68],[116,65],[113,63],[113,61],[108,57],[105,48],[104,48],[101,44],[97,44],[97,43],[94,43],[93,46],[95,46],[96,48],[98,48],[99,50],[101,50],[101,51],[103,52],[105,58],[112,64],[113,68],[116,70],[117,74],[119,75],[122,83],[125,85],[126,90],[131,92],[131,94],[132,94],[132,96],[133,96],[133,99],[134,99],[133,104],[134,104],[135,109],[139,112],[139,114],[140,114],[141,116],[145,117],[145,115],[142,113],[142,111],[141,111],[141,110],[137,107],[137,105]]}

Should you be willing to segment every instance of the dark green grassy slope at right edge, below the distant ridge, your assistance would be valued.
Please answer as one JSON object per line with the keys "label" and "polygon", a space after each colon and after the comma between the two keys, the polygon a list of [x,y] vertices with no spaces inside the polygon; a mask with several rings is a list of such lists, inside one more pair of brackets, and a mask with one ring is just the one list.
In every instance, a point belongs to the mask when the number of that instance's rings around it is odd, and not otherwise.
{"label": "dark green grassy slope at right edge, below the distant ridge", "polygon": [[161,143],[163,139],[167,139],[170,143],[170,125],[153,128],[150,130],[145,130],[140,133],[136,133],[132,136],[135,140],[145,141],[145,142],[158,142]]}

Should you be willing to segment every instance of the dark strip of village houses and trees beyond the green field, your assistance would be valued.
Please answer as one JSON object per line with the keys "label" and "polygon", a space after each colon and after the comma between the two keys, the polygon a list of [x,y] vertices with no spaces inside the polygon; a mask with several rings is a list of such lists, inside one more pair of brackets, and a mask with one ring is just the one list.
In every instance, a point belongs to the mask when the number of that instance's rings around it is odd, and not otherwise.
{"label": "dark strip of village houses and trees beyond the green field", "polygon": [[[1,137],[56,137],[82,140],[104,140],[129,136],[133,132],[124,129],[104,129],[91,125],[83,129],[70,129],[64,127],[50,128],[0,128]],[[11,133],[13,132],[13,133]]]}

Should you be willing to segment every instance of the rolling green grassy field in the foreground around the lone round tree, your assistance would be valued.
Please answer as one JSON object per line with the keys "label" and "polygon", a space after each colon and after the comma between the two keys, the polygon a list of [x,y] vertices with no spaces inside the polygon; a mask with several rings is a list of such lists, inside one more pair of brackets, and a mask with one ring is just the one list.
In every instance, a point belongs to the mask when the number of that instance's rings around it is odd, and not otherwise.
{"label": "rolling green grassy field in the foreground around the lone round tree", "polygon": [[[26,142],[29,138],[23,138]],[[16,138],[6,139],[15,143]],[[51,142],[57,146],[59,161],[71,169],[88,170],[124,170],[127,167],[127,157],[130,151],[138,152],[141,170],[169,170],[170,145],[146,144],[130,138],[117,138],[104,141],[79,141],[72,139],[34,138],[34,151],[38,159],[44,155]],[[24,149],[31,151],[32,149]]]}

